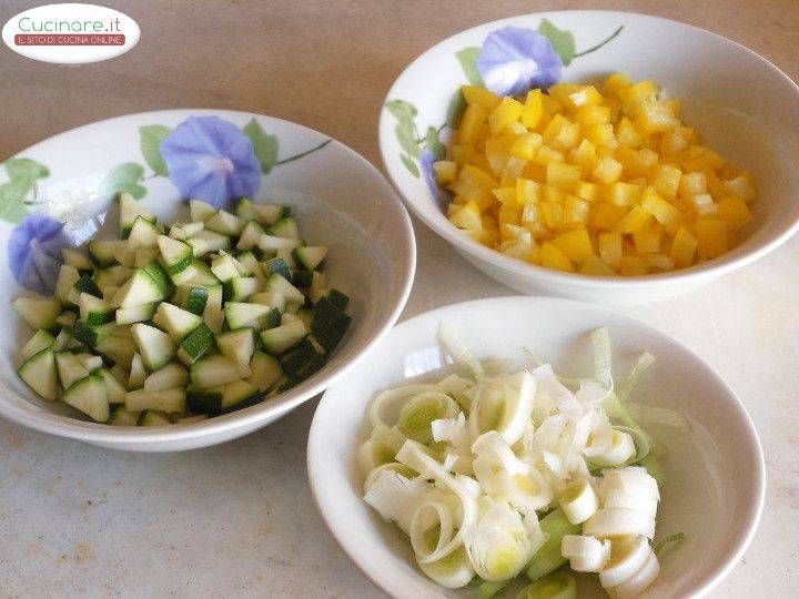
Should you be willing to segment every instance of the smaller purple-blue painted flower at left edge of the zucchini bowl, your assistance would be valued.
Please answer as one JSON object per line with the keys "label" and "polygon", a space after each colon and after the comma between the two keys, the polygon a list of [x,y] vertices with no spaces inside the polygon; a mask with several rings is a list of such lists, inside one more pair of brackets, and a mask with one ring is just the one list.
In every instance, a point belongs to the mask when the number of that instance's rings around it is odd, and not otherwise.
{"label": "smaller purple-blue painted flower at left edge of the zucchini bowl", "polygon": [[20,285],[50,295],[61,267],[61,250],[68,245],[63,223],[41,214],[26,216],[9,238],[9,267]]}

